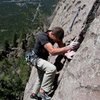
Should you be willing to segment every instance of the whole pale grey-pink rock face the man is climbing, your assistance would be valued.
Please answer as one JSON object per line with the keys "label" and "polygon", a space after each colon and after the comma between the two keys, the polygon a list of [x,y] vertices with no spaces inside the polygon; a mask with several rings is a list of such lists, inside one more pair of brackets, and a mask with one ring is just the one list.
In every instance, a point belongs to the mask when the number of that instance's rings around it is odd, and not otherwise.
{"label": "whole pale grey-pink rock face the man is climbing", "polygon": [[[52,100],[100,100],[100,0],[62,0],[50,26],[65,31],[64,42],[81,36],[81,45],[73,59],[60,72],[59,85]],[[54,63],[55,57],[50,57]],[[24,100],[36,78],[32,69]]]}

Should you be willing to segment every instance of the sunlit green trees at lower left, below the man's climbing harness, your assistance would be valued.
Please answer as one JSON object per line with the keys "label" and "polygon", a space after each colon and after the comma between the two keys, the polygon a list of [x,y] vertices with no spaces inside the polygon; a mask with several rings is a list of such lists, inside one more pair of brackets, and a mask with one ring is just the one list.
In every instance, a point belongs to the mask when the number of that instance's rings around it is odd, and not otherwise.
{"label": "sunlit green trees at lower left, below the man's climbing harness", "polygon": [[24,58],[4,59],[0,62],[0,98],[1,100],[22,100],[28,81],[30,68]]}

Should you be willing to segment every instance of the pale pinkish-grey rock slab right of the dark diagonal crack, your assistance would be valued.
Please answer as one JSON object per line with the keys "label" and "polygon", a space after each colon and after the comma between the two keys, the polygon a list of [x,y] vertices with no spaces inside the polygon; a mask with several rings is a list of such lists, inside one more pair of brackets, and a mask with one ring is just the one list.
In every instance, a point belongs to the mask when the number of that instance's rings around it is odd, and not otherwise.
{"label": "pale pinkish-grey rock slab right of the dark diagonal crack", "polygon": [[100,100],[100,16],[63,72],[52,100]]}

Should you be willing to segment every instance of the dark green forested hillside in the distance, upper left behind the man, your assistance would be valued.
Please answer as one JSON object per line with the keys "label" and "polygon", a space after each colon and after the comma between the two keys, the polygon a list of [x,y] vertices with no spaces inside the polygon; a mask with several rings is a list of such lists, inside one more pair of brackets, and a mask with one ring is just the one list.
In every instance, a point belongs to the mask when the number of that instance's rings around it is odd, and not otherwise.
{"label": "dark green forested hillside in the distance, upper left behind the man", "polygon": [[[21,34],[27,34],[42,27],[44,19],[52,15],[57,0],[0,0],[13,2],[0,2],[0,49],[4,48],[5,41],[13,44],[13,38],[17,35],[17,42]],[[15,2],[18,1],[18,2]],[[23,2],[22,2],[23,1]],[[33,23],[37,6],[40,8]]]}

